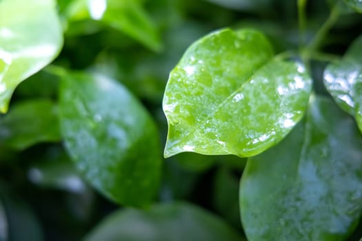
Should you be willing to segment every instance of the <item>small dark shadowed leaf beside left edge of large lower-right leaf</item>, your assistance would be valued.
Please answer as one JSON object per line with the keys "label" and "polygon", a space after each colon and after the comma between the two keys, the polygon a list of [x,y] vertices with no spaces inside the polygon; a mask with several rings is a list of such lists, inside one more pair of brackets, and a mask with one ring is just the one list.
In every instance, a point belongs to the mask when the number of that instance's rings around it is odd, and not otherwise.
{"label": "small dark shadowed leaf beside left edge of large lower-right leaf", "polygon": [[239,179],[231,170],[221,167],[214,180],[212,204],[234,227],[241,227],[239,211]]}

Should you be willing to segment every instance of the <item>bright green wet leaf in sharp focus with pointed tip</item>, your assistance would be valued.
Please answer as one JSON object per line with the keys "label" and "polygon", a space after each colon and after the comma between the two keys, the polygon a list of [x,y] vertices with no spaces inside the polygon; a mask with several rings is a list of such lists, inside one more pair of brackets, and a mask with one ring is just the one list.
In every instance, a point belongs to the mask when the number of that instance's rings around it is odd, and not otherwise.
{"label": "bright green wet leaf in sharp focus with pointed tip", "polygon": [[259,154],[301,119],[310,90],[303,66],[273,59],[259,32],[213,32],[192,44],[170,73],[165,157]]}

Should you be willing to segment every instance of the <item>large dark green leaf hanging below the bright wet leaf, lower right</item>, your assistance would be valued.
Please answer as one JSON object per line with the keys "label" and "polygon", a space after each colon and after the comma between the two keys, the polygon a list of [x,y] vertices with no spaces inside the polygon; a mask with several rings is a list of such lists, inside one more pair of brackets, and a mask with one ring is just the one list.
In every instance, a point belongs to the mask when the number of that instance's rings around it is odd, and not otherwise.
{"label": "large dark green leaf hanging below the bright wet leaf, lower right", "polygon": [[248,160],[240,206],[252,241],[345,240],[362,211],[362,140],[352,118],[312,98],[285,140]]}

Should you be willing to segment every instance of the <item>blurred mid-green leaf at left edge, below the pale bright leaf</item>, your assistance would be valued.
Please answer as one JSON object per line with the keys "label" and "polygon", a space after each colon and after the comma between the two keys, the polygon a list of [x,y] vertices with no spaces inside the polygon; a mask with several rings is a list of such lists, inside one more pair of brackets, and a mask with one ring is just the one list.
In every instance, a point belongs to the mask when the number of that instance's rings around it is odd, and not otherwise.
{"label": "blurred mid-green leaf at left edge, below the pale bright leaf", "polygon": [[52,101],[17,103],[0,119],[0,146],[21,151],[37,143],[60,140],[58,107]]}

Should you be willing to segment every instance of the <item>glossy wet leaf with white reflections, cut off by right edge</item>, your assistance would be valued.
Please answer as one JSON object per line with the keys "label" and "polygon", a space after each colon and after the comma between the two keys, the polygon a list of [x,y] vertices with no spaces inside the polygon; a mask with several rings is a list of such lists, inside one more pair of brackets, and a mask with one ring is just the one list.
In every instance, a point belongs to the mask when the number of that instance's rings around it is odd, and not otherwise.
{"label": "glossy wet leaf with white reflections, cut off by right edge", "polygon": [[362,85],[362,35],[356,39],[343,59],[330,63],[325,68],[324,85],[334,98],[334,101],[345,112],[353,115],[362,129],[361,87]]}

